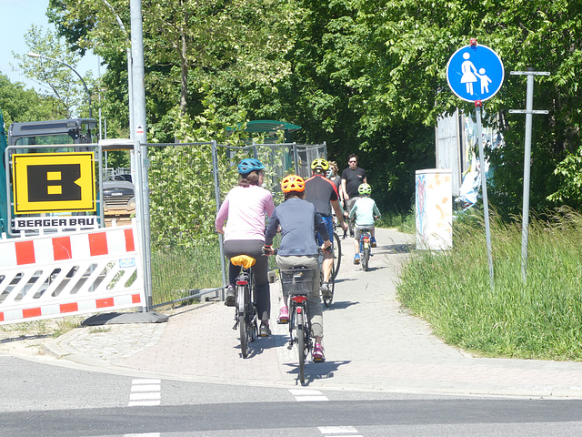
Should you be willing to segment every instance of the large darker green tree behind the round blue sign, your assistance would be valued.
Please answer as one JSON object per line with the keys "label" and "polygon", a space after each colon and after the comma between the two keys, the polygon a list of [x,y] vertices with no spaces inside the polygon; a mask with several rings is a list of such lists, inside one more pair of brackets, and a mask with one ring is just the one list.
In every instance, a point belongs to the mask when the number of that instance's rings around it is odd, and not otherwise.
{"label": "large darker green tree behind the round blue sign", "polygon": [[[550,114],[535,120],[532,207],[552,206],[548,196],[557,200],[568,194],[571,203],[576,200],[571,196],[579,192],[577,161],[569,159],[559,171],[555,168],[580,147],[579,2],[340,0],[302,5],[309,12],[293,50],[294,75],[285,96],[296,105],[280,107],[299,107],[306,113],[309,119],[298,114],[297,124],[310,127],[307,135],[327,137],[335,146],[332,153],[339,148],[340,157],[345,157],[347,143],[363,158],[374,149],[384,151],[386,157],[405,158],[397,151],[397,138],[424,131],[417,137],[425,137],[422,145],[412,143],[410,151],[417,148],[432,158],[434,137],[427,134],[437,117],[457,106],[467,114],[474,110],[450,92],[445,67],[458,47],[476,37],[502,57],[507,73],[528,66],[552,72],[537,79],[536,85],[535,105]],[[525,79],[507,74],[506,85],[485,106],[487,114],[500,113],[503,121],[506,146],[487,155],[496,168],[492,202],[507,212],[516,212],[521,203],[525,131],[525,117],[509,116],[507,109],[525,107],[525,93]],[[319,128],[311,128],[317,124]],[[412,180],[416,166],[422,164],[408,157],[374,158],[367,168],[387,180],[395,180],[391,173],[400,163]],[[360,159],[364,167],[366,160]],[[552,197],[559,187],[563,187],[561,195]],[[407,199],[406,185],[398,189]]]}

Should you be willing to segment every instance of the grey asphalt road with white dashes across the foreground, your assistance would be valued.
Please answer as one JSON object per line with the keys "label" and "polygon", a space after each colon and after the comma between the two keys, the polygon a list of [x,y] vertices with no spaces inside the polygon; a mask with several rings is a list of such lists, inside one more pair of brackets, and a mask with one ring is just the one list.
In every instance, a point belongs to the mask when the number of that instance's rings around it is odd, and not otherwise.
{"label": "grey asphalt road with white dashes across the foreground", "polygon": [[[0,356],[0,435],[580,435],[582,401],[421,396],[148,381],[158,404],[130,406],[140,378]],[[139,392],[139,391],[138,391]]]}

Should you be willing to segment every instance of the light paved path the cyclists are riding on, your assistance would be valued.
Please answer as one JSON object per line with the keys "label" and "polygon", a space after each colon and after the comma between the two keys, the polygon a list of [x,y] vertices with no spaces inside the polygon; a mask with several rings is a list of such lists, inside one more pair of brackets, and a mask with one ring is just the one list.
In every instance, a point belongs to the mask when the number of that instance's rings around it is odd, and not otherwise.
{"label": "light paved path the cyclists are riding on", "polygon": [[[309,387],[409,393],[582,398],[582,363],[473,358],[431,334],[396,301],[395,280],[413,237],[377,229],[365,272],[344,256],[331,309],[324,311],[327,361],[307,363]],[[272,284],[272,328],[240,357],[234,310],[222,303],[186,307],[167,323],[106,325],[70,331],[46,343],[61,360],[122,373],[215,383],[295,386],[297,363],[276,324],[280,285]]]}

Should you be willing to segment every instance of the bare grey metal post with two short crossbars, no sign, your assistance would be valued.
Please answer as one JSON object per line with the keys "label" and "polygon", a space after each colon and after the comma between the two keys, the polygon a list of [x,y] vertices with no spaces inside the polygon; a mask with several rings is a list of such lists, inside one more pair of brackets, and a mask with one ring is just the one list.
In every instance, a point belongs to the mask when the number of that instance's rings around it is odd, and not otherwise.
{"label": "bare grey metal post with two short crossbars, no sign", "polygon": [[527,97],[526,110],[509,109],[509,114],[526,114],[526,144],[524,147],[524,205],[523,218],[521,225],[521,278],[524,283],[527,278],[527,240],[529,232],[529,173],[531,161],[531,130],[532,130],[532,115],[533,114],[547,114],[547,111],[535,111],[534,107],[534,76],[549,76],[547,71],[534,71],[533,68],[528,68],[527,71],[512,71],[510,75],[526,75],[527,76]]}

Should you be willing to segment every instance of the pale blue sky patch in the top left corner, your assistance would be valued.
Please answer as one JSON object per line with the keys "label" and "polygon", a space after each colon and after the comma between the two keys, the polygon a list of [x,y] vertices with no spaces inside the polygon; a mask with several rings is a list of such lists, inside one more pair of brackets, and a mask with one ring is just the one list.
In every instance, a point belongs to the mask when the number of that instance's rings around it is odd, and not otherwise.
{"label": "pale blue sky patch in the top left corner", "polygon": [[[28,53],[28,46],[25,43],[25,33],[31,25],[42,25],[43,29],[55,30],[54,25],[48,24],[46,8],[48,0],[0,0],[0,73],[8,76],[11,82],[23,82],[27,88],[35,87],[38,91],[45,88],[38,83],[26,79],[21,71],[13,71],[13,66],[17,68],[17,62],[12,56],[12,52],[20,55]],[[12,66],[11,66],[12,65]],[[93,72],[96,77],[101,69],[105,72],[105,67],[99,67],[97,56],[86,55],[75,68],[82,76],[87,70]]]}

